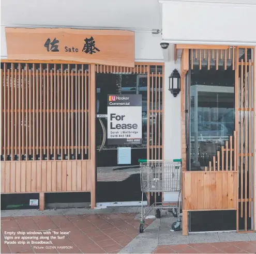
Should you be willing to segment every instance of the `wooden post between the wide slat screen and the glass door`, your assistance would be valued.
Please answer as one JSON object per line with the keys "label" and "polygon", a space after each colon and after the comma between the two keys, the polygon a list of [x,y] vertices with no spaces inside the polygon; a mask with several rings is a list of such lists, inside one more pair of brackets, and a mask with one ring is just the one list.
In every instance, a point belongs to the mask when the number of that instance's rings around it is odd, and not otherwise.
{"label": "wooden post between the wide slat screen and the glass door", "polygon": [[91,176],[92,176],[92,189],[91,189],[91,208],[94,209],[96,206],[96,161],[95,161],[95,149],[96,149],[96,138],[95,138],[95,100],[96,100],[96,81],[95,81],[95,65],[91,65],[89,67],[89,87],[90,87],[90,94],[89,94],[89,105],[90,112],[89,112],[89,124],[90,124],[90,133],[89,133],[89,140],[90,140],[90,154],[91,154]]}

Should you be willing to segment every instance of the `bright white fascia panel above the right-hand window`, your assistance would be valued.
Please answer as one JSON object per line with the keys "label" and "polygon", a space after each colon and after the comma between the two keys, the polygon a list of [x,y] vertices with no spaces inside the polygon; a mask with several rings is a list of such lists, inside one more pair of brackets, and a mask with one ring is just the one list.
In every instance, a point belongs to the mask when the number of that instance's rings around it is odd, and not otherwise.
{"label": "bright white fascia panel above the right-hand window", "polygon": [[[162,2],[162,36],[172,43],[254,45],[256,1]],[[210,3],[212,2],[212,3]],[[222,2],[222,3],[220,3]],[[243,4],[249,2],[251,4]]]}

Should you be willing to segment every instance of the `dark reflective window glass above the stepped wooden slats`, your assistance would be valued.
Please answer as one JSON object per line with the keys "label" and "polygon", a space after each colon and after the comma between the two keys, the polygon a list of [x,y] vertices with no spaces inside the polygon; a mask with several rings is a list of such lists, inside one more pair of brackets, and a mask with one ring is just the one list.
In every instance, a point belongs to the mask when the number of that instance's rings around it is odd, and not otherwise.
{"label": "dark reflective window glass above the stepped wooden slats", "polygon": [[193,62],[190,77],[190,170],[204,170],[213,156],[233,135],[235,72],[232,61],[224,70],[223,60]]}

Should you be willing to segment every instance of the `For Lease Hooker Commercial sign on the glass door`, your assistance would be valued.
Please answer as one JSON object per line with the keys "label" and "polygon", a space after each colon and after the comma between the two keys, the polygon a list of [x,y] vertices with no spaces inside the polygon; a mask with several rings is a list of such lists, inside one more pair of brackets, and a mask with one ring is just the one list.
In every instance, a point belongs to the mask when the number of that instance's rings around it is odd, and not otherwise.
{"label": "For Lease Hooker Commercial sign on the glass door", "polygon": [[141,94],[108,94],[108,145],[141,142]]}

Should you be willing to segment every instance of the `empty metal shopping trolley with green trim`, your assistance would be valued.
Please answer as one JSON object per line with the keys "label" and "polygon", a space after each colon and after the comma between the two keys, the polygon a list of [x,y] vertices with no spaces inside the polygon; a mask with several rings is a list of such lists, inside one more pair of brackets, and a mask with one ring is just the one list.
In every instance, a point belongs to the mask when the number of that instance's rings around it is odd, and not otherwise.
{"label": "empty metal shopping trolley with green trim", "polygon": [[[155,216],[160,218],[161,210],[170,210],[171,208],[174,216],[178,218],[178,220],[172,224],[172,229],[174,231],[180,230],[182,159],[139,160],[139,163],[142,191],[140,233],[143,233],[145,218],[152,210],[155,210]],[[150,192],[178,192],[178,200],[175,205],[170,205],[170,203],[168,204],[168,202],[164,202],[164,200],[150,205],[147,197],[147,207],[143,209],[143,194],[145,193],[147,196]]]}

